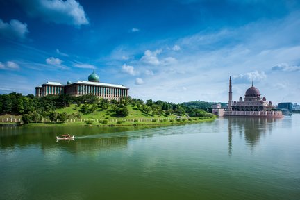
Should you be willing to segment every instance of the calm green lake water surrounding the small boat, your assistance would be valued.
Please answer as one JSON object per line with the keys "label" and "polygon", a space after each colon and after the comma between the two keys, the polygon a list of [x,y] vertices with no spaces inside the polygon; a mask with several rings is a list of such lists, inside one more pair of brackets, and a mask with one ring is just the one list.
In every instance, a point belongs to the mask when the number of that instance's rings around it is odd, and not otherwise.
{"label": "calm green lake water surrounding the small boat", "polygon": [[2,127],[0,199],[300,199],[300,115]]}

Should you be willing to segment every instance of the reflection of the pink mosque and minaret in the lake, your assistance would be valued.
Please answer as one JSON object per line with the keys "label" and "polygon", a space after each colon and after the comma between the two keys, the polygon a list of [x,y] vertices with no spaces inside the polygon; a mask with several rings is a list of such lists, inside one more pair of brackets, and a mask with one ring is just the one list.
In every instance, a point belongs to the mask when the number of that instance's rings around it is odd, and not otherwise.
{"label": "reflection of the pink mosque and minaret in the lake", "polygon": [[229,117],[228,118],[228,154],[233,151],[233,133],[244,137],[247,146],[253,150],[260,138],[266,133],[272,133],[274,122],[278,118],[250,118],[250,117]]}

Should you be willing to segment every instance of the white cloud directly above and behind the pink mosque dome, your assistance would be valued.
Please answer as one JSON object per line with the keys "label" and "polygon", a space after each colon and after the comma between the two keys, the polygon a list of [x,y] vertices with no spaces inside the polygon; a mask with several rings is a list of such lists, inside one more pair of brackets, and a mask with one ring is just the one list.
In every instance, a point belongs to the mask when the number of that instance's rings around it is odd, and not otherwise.
{"label": "white cloud directly above and behind the pink mosque dome", "polygon": [[265,72],[258,72],[257,70],[254,72],[248,72],[245,74],[239,74],[232,76],[235,83],[251,83],[251,81],[260,82],[267,78]]}

